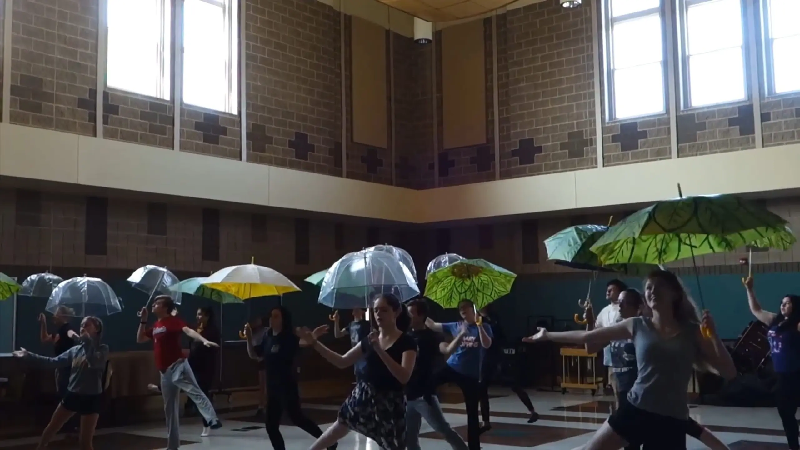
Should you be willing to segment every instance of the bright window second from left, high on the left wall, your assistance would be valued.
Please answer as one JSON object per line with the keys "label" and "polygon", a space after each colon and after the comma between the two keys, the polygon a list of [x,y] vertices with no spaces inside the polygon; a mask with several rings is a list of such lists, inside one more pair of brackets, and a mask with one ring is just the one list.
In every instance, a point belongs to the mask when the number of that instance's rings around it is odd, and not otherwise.
{"label": "bright window second from left, high on the left wall", "polygon": [[184,0],[183,101],[238,113],[236,0]]}

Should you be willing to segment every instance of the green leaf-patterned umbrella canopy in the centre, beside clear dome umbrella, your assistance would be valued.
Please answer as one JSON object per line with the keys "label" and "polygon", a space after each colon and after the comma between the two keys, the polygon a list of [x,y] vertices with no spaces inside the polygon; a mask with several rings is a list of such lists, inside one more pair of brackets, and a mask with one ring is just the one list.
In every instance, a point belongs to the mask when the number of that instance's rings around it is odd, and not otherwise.
{"label": "green leaf-patterned umbrella canopy in the centre, beside clear dome umbrella", "polygon": [[517,275],[484,259],[463,259],[428,275],[425,296],[442,307],[470,299],[480,309],[511,291]]}

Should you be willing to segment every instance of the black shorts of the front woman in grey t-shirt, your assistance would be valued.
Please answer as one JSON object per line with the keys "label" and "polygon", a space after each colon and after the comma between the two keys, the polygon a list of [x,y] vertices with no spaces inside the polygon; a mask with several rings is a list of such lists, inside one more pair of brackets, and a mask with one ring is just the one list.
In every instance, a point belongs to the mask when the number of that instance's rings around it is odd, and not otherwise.
{"label": "black shorts of the front woman in grey t-shirt", "polygon": [[662,416],[620,402],[619,409],[608,418],[608,424],[631,446],[643,445],[646,450],[686,450],[688,421]]}

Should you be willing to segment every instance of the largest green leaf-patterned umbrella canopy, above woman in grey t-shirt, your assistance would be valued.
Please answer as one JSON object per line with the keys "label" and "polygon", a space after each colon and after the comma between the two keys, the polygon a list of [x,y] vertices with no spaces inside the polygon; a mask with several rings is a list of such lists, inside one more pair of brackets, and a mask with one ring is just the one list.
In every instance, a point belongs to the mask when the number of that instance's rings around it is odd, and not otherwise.
{"label": "largest green leaf-patterned umbrella canopy, above woman in grey t-shirt", "polygon": [[590,248],[603,265],[664,264],[747,245],[788,250],[786,220],[735,195],[666,200],[610,227]]}

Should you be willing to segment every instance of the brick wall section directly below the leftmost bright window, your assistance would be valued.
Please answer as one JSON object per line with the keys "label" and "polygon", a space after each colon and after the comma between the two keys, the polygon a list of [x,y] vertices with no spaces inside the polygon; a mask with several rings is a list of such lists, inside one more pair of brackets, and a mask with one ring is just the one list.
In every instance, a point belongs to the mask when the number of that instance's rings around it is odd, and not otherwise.
{"label": "brick wall section directly below the leftmost bright window", "polygon": [[106,89],[108,90],[103,92],[104,138],[174,148],[174,107],[171,102]]}

